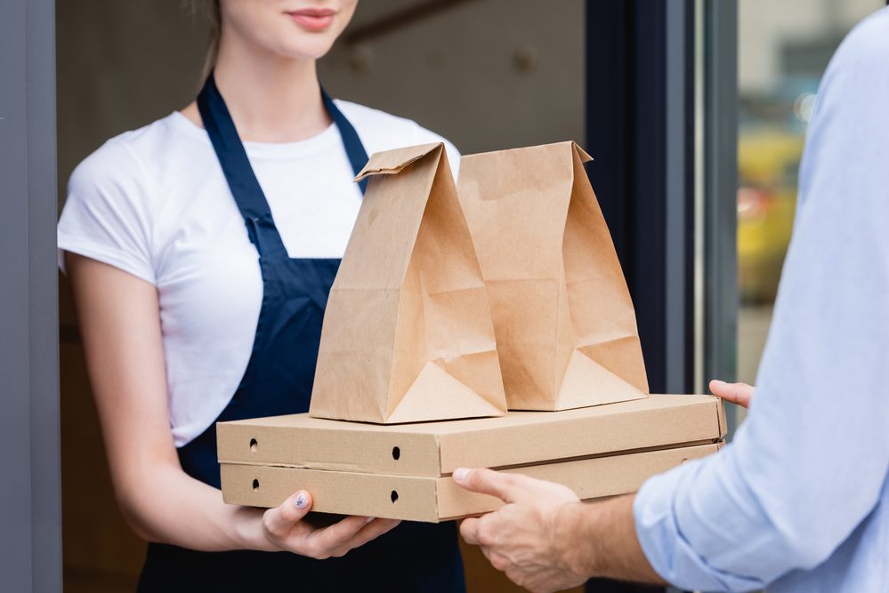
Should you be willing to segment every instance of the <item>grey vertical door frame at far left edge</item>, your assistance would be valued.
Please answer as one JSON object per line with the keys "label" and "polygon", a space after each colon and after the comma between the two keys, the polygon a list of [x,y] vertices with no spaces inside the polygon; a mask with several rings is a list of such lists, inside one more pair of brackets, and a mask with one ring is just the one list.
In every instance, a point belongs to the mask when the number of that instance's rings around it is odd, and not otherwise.
{"label": "grey vertical door frame at far left edge", "polygon": [[61,591],[55,6],[0,13],[0,574]]}

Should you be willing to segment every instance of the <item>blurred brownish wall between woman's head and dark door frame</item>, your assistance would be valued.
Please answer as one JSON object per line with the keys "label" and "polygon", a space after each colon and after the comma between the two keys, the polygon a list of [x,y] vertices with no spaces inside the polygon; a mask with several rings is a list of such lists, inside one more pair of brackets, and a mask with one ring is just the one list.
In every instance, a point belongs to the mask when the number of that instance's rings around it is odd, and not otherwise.
{"label": "blurred brownish wall between woman's head and dark door frame", "polygon": [[[365,0],[352,30],[412,3]],[[584,1],[474,0],[321,60],[331,94],[416,119],[464,153],[584,140]]]}

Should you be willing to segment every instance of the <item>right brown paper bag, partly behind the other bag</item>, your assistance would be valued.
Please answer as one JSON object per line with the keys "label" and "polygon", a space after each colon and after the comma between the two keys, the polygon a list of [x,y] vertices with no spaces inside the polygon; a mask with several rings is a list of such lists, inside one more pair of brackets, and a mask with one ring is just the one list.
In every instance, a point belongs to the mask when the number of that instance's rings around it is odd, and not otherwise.
{"label": "right brown paper bag, partly behind the other bag", "polygon": [[506,402],[564,410],[645,397],[617,253],[574,142],[464,156],[459,196],[488,287]]}

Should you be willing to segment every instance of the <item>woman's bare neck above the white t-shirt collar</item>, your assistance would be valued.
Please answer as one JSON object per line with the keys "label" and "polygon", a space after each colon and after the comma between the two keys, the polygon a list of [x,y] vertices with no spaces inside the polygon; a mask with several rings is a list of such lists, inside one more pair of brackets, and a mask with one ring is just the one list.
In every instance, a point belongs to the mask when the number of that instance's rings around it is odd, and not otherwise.
{"label": "woman's bare neck above the white t-shirt collar", "polygon": [[[283,58],[223,34],[214,78],[241,140],[295,142],[331,124],[315,60]],[[182,113],[200,121],[195,104]]]}

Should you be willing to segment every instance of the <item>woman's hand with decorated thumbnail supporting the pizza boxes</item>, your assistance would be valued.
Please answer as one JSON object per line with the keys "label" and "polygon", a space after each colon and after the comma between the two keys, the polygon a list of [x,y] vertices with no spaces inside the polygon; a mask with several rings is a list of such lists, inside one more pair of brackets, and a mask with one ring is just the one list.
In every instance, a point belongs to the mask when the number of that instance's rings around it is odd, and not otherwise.
{"label": "woman's hand with decorated thumbnail supporting the pizza boxes", "polygon": [[400,522],[374,517],[346,517],[329,527],[316,528],[303,521],[311,509],[311,494],[295,493],[277,509],[263,514],[263,535],[273,549],[323,560],[341,557],[388,532]]}

